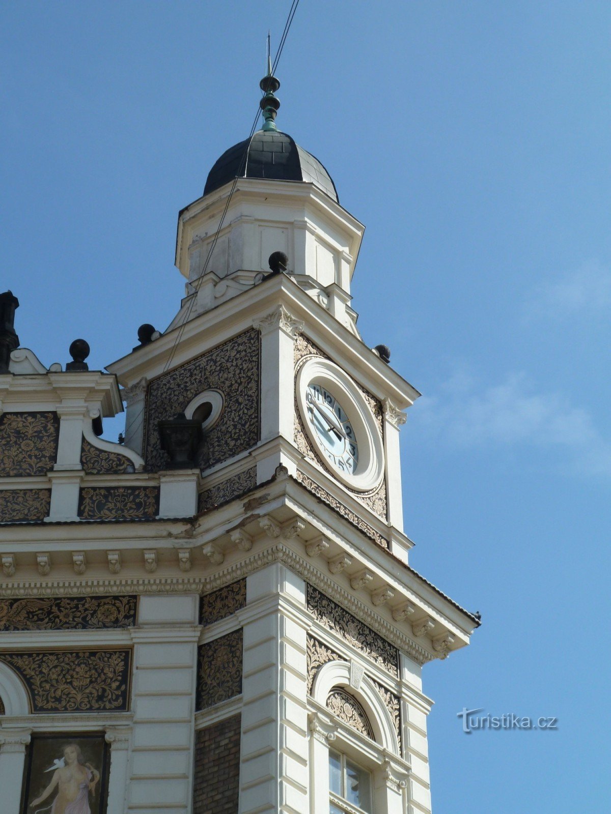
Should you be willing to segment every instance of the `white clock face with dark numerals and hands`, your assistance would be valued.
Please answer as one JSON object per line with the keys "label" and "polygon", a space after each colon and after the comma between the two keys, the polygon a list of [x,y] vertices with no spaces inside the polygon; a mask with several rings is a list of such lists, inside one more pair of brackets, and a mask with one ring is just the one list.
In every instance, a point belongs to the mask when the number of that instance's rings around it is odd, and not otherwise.
{"label": "white clock face with dark numerals and hands", "polygon": [[327,460],[348,475],[358,466],[358,441],[354,427],[340,402],[325,387],[310,383],[306,392],[310,427]]}

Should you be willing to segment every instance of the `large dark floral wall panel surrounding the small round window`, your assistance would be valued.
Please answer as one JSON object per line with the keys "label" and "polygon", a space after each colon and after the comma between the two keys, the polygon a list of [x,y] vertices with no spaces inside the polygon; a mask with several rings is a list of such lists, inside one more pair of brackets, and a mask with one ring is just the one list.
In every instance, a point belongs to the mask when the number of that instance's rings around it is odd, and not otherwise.
{"label": "large dark floral wall panel surrounding the small round window", "polygon": [[183,413],[189,402],[204,390],[222,392],[224,407],[218,422],[205,434],[200,469],[208,469],[257,444],[260,353],[258,330],[247,330],[152,380],[144,428],[147,470],[162,470],[168,462],[160,446],[157,422]]}

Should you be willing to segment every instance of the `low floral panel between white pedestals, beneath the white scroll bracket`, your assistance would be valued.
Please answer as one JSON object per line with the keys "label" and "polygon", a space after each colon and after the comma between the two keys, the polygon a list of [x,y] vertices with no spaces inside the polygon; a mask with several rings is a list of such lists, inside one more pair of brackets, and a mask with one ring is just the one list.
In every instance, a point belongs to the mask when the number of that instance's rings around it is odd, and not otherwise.
{"label": "low floral panel between white pedestals, beneath the white scroll bracket", "polygon": [[81,489],[78,516],[83,520],[152,520],[159,514],[155,486],[104,486]]}

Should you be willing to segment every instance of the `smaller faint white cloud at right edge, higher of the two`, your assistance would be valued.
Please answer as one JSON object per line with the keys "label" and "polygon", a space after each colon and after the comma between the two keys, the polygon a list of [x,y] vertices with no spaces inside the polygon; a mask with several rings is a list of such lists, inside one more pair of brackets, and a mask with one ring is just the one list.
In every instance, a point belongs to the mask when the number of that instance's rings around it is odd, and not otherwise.
{"label": "smaller faint white cloud at right edge, higher of the two", "polygon": [[531,292],[524,304],[526,317],[564,319],[578,313],[594,316],[611,306],[611,269],[591,261],[576,271],[546,282]]}

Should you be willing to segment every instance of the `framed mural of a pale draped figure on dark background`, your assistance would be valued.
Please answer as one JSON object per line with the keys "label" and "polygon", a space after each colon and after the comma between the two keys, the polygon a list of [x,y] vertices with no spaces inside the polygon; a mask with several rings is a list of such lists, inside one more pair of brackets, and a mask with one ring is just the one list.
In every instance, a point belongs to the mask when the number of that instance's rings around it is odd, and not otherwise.
{"label": "framed mural of a pale draped figure on dark background", "polygon": [[109,770],[104,733],[33,734],[22,814],[106,814]]}

